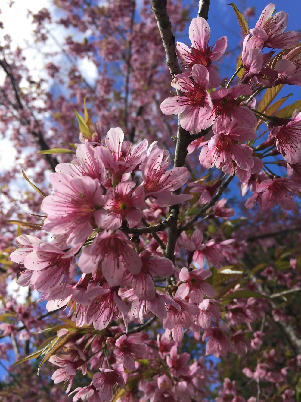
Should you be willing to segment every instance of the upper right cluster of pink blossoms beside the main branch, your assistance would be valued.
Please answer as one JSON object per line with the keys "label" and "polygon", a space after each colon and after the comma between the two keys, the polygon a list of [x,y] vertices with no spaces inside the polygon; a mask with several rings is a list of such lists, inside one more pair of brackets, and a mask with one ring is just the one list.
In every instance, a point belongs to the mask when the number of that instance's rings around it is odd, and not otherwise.
{"label": "upper right cluster of pink blossoms beside the main branch", "polygon": [[[273,15],[275,4],[268,4],[254,29],[243,41],[242,70],[237,85],[218,88],[221,84],[214,62],[226,50],[227,39],[221,37],[209,46],[210,28],[203,18],[193,18],[189,27],[191,46],[177,43],[177,56],[185,71],[177,74],[171,86],[180,94],[165,99],[161,111],[167,115],[181,113],[181,126],[191,134],[205,130],[206,140],[196,139],[190,146],[202,146],[199,161],[205,168],[216,166],[225,173],[235,174],[242,183],[242,195],[248,189],[253,195],[246,201],[251,208],[259,203],[264,209],[279,204],[293,209],[293,196],[301,190],[301,114],[292,119],[264,116],[269,129],[268,139],[255,144],[258,119],[254,96],[267,87],[280,84],[301,85],[300,33],[283,32],[288,15],[281,11]],[[291,49],[273,58],[275,51],[263,54],[262,49]],[[275,61],[274,61],[275,60]],[[200,133],[200,136],[202,133]],[[270,153],[260,153],[269,148]],[[281,154],[288,178],[279,177],[266,167],[267,156]],[[283,163],[281,163],[283,162]]]}

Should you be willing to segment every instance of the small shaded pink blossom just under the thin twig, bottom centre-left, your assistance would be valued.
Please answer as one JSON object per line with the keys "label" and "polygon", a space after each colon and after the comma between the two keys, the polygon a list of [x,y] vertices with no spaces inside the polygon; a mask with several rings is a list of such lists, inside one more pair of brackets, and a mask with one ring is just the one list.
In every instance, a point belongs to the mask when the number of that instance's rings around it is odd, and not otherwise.
{"label": "small shaded pink blossom just under the thin twig, bottom centre-left", "polygon": [[116,348],[114,353],[118,356],[124,365],[124,368],[129,371],[134,371],[135,361],[134,356],[138,359],[143,359],[146,353],[147,346],[134,335],[122,335],[116,340]]}

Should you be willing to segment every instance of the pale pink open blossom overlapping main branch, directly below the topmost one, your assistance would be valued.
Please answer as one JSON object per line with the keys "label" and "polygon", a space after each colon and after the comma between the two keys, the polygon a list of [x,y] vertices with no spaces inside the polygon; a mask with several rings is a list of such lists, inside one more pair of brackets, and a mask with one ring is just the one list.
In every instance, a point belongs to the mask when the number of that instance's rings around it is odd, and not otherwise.
{"label": "pale pink open blossom overlapping main branch, directly below the topmost one", "polygon": [[161,111],[165,115],[181,114],[181,127],[187,131],[205,129],[214,121],[211,113],[212,101],[206,90],[209,85],[209,73],[205,66],[195,64],[192,67],[192,78],[175,78],[171,85],[181,90],[183,95],[167,98],[161,103]]}

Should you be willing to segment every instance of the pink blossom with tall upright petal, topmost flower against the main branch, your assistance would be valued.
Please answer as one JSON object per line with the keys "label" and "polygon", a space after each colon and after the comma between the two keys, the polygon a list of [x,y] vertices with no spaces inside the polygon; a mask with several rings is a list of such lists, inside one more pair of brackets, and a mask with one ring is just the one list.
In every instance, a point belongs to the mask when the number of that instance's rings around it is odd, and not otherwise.
{"label": "pink blossom with tall upright petal, topmost flower against the main branch", "polygon": [[181,66],[185,67],[185,72],[178,74],[177,77],[189,77],[192,67],[201,64],[206,67],[209,73],[208,87],[214,88],[220,85],[220,76],[213,68],[212,61],[222,57],[227,47],[227,38],[221,37],[213,46],[208,46],[210,38],[210,27],[204,18],[193,18],[189,26],[189,39],[191,46],[184,43],[176,43],[176,52]]}

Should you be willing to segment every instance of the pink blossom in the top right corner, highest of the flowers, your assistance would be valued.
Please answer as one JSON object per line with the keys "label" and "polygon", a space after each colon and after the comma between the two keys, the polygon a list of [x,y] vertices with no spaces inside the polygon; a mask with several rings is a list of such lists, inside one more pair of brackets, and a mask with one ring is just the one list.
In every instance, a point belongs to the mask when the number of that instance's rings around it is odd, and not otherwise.
{"label": "pink blossom in the top right corner, highest of the flowers", "polygon": [[275,4],[268,4],[262,11],[255,28],[250,29],[250,33],[261,39],[266,47],[289,49],[297,45],[301,37],[300,32],[283,32],[287,27],[289,15],[283,11],[273,15],[274,10]]}

